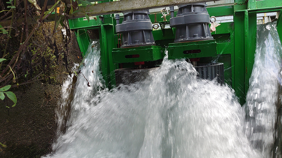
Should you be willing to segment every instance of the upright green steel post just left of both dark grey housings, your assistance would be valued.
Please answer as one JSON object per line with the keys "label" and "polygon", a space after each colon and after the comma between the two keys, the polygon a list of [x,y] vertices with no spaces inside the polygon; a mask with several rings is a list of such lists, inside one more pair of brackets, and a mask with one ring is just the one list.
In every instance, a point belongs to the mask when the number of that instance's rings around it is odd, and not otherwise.
{"label": "upright green steel post just left of both dark grey housings", "polygon": [[112,50],[115,48],[114,26],[101,25],[99,28],[101,47],[101,69],[103,79],[109,89],[115,86],[115,72],[117,65],[113,63]]}

